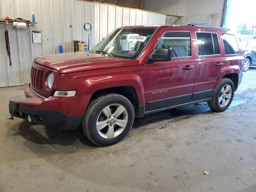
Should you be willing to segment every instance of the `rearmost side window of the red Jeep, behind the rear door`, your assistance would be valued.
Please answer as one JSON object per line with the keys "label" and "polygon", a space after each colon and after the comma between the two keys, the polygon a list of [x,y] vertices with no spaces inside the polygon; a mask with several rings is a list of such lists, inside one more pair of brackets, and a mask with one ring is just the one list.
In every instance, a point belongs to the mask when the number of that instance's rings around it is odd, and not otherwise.
{"label": "rearmost side window of the red Jeep, behind the rear door", "polygon": [[225,55],[238,54],[238,44],[236,41],[236,37],[231,34],[222,34]]}

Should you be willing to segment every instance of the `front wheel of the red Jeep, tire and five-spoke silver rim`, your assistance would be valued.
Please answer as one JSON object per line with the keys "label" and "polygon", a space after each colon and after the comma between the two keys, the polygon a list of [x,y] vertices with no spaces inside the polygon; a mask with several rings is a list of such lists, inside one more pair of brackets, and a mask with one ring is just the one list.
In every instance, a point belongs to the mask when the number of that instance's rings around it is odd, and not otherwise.
{"label": "front wheel of the red Jeep, tire and five-spoke silver rim", "polygon": [[[111,118],[107,117],[109,115]],[[82,119],[82,129],[94,144],[108,146],[122,140],[132,128],[133,121],[131,102],[120,94],[106,94],[89,104]]]}

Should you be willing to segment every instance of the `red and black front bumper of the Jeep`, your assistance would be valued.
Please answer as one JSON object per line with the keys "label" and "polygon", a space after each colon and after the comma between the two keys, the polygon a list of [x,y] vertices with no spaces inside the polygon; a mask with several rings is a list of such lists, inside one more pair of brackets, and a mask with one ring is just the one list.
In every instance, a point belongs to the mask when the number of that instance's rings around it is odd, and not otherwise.
{"label": "red and black front bumper of the Jeep", "polygon": [[32,123],[61,130],[78,128],[89,103],[90,96],[40,98],[24,85],[26,98],[19,96],[9,98],[9,112],[15,117],[27,119]]}

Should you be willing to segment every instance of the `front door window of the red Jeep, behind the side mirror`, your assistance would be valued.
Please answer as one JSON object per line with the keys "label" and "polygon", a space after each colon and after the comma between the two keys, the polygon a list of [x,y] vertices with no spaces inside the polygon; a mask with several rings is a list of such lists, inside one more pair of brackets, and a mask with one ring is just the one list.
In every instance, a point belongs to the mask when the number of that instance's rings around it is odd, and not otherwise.
{"label": "front door window of the red Jeep, behind the side mirror", "polygon": [[191,56],[190,32],[167,32],[156,48],[172,48],[172,58]]}

